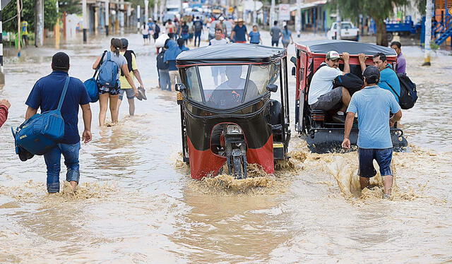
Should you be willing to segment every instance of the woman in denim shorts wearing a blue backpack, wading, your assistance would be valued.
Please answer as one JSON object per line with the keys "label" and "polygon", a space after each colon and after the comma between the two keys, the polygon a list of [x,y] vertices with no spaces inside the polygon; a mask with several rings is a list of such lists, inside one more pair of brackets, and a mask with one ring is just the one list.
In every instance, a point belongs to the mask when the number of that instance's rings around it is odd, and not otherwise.
{"label": "woman in denim shorts wearing a blue backpack, wading", "polygon": [[[117,85],[114,88],[109,88],[106,86],[100,86],[99,87],[99,104],[100,104],[100,111],[99,111],[99,126],[105,126],[105,118],[107,116],[107,107],[108,107],[108,101],[109,101],[109,109],[110,114],[112,115],[112,124],[117,124],[118,122],[118,98],[119,98],[119,90],[121,88],[121,83],[119,82],[119,74],[120,71],[124,73],[124,77],[126,77],[126,80],[129,82],[133,90],[136,90],[135,84],[133,83],[133,80],[129,74],[129,68],[127,67],[127,61],[124,56],[119,54],[119,51],[122,48],[122,42],[119,39],[112,38],[110,42],[110,57],[111,61],[117,64],[118,66],[118,72],[117,74]],[[93,64],[93,68],[99,68],[102,63],[107,59],[107,51],[102,54],[102,56],[98,56],[96,61]]]}

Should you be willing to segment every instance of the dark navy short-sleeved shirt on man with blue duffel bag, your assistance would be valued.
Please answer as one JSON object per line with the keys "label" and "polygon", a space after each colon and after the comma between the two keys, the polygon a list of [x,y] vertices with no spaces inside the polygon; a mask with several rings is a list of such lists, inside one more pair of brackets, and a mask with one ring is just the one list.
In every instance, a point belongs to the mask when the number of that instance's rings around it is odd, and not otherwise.
{"label": "dark navy short-sleeved shirt on man with blue duffel bag", "polygon": [[[27,104],[34,109],[41,109],[41,113],[57,109],[64,82],[68,73],[54,71],[48,76],[40,78],[28,95]],[[90,103],[90,96],[81,80],[71,77],[68,90],[61,106],[61,116],[64,119],[64,138],[60,143],[75,144],[80,141],[78,135],[78,105]]]}

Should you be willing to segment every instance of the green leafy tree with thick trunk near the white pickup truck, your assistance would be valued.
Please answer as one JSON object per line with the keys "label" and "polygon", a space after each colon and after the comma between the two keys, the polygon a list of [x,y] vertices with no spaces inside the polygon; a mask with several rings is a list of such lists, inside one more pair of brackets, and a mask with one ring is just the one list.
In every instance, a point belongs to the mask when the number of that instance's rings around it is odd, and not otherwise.
{"label": "green leafy tree with thick trunk near the white pickup truck", "polygon": [[394,6],[406,4],[407,0],[333,0],[331,7],[339,8],[343,17],[354,20],[359,18],[359,15],[373,18],[376,25],[376,44],[387,47],[388,38],[384,20],[393,16]]}

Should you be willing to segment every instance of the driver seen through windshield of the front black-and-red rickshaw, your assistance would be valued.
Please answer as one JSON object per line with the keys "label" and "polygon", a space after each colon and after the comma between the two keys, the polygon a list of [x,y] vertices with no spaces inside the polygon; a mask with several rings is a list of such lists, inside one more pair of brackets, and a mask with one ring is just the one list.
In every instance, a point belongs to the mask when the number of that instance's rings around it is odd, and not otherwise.
{"label": "driver seen through windshield of the front black-and-red rickshaw", "polygon": [[[242,78],[242,66],[225,66],[225,73],[227,80],[213,90],[207,102],[209,106],[225,109],[236,107],[244,102],[246,79]],[[257,86],[252,80],[249,80],[246,98],[256,98],[257,96]]]}

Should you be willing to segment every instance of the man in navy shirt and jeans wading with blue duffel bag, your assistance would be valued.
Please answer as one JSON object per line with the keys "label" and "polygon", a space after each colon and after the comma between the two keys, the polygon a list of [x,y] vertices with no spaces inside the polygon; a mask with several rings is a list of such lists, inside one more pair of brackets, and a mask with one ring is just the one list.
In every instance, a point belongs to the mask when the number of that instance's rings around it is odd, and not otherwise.
{"label": "man in navy shirt and jeans wading with blue duffel bag", "polygon": [[[58,52],[52,57],[52,73],[40,78],[33,86],[28,95],[27,112],[25,119],[35,115],[37,109],[47,112],[57,109],[58,102],[63,92],[64,83],[69,71],[69,56],[64,52]],[[47,191],[49,193],[59,192],[59,172],[61,167],[61,154],[64,156],[64,164],[67,167],[66,181],[69,181],[73,191],[75,191],[80,179],[78,165],[78,152],[80,150],[80,136],[78,135],[78,105],[81,105],[83,112],[82,140],[90,142],[91,136],[91,109],[90,96],[85,89],[85,85],[77,78],[71,77],[69,80],[66,96],[61,107],[61,116],[64,119],[64,137],[57,146],[44,154],[47,165]]]}

